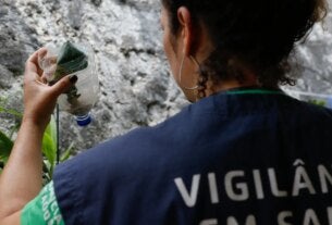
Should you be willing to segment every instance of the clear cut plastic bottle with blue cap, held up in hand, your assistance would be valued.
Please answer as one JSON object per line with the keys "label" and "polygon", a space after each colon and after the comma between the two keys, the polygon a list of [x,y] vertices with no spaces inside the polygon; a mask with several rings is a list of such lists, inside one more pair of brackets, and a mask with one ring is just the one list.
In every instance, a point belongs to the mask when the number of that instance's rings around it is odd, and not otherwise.
{"label": "clear cut plastic bottle with blue cap, held up in hand", "polygon": [[73,114],[77,125],[88,125],[91,122],[90,110],[99,93],[91,47],[66,41],[61,47],[47,45],[46,49],[47,54],[41,55],[38,61],[49,85],[65,75],[76,75],[78,78],[69,91],[59,97],[59,109]]}

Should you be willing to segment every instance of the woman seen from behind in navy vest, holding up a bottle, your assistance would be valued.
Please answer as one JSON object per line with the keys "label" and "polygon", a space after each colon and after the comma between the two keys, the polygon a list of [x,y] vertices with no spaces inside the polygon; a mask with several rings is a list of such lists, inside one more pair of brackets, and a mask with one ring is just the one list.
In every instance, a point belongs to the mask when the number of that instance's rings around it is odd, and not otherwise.
{"label": "woman seen from behind in navy vest, holding up a bottle", "polygon": [[332,112],[279,89],[293,84],[287,58],[325,2],[162,5],[165,54],[195,103],[59,165],[40,191],[41,136],[57,97],[77,77],[44,85],[45,50],[37,51],[0,177],[0,224],[331,224]]}

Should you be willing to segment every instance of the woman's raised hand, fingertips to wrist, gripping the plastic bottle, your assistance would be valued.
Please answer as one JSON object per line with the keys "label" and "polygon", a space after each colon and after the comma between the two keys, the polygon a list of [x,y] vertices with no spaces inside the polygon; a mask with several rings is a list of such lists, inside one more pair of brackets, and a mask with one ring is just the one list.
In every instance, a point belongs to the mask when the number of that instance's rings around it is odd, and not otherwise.
{"label": "woman's raised hand, fingertips to wrist, gripping the plastic bottle", "polygon": [[76,83],[77,76],[65,76],[53,86],[48,86],[38,59],[47,53],[45,48],[36,51],[27,60],[24,73],[23,123],[33,123],[42,130],[50,121],[58,97]]}

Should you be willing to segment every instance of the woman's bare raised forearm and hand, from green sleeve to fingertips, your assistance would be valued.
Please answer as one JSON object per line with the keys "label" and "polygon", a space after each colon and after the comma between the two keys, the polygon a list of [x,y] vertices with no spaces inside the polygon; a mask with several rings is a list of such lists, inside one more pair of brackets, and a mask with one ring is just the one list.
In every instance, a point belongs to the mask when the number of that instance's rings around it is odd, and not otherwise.
{"label": "woman's bare raised forearm and hand, from green sleeve to fingertips", "polygon": [[[54,110],[57,98],[77,80],[63,77],[48,86],[38,65],[36,51],[26,62],[24,74],[24,114],[15,145],[0,176],[0,224],[20,224],[22,209],[34,199],[42,184],[42,134]],[[2,203],[4,202],[4,203]]]}

